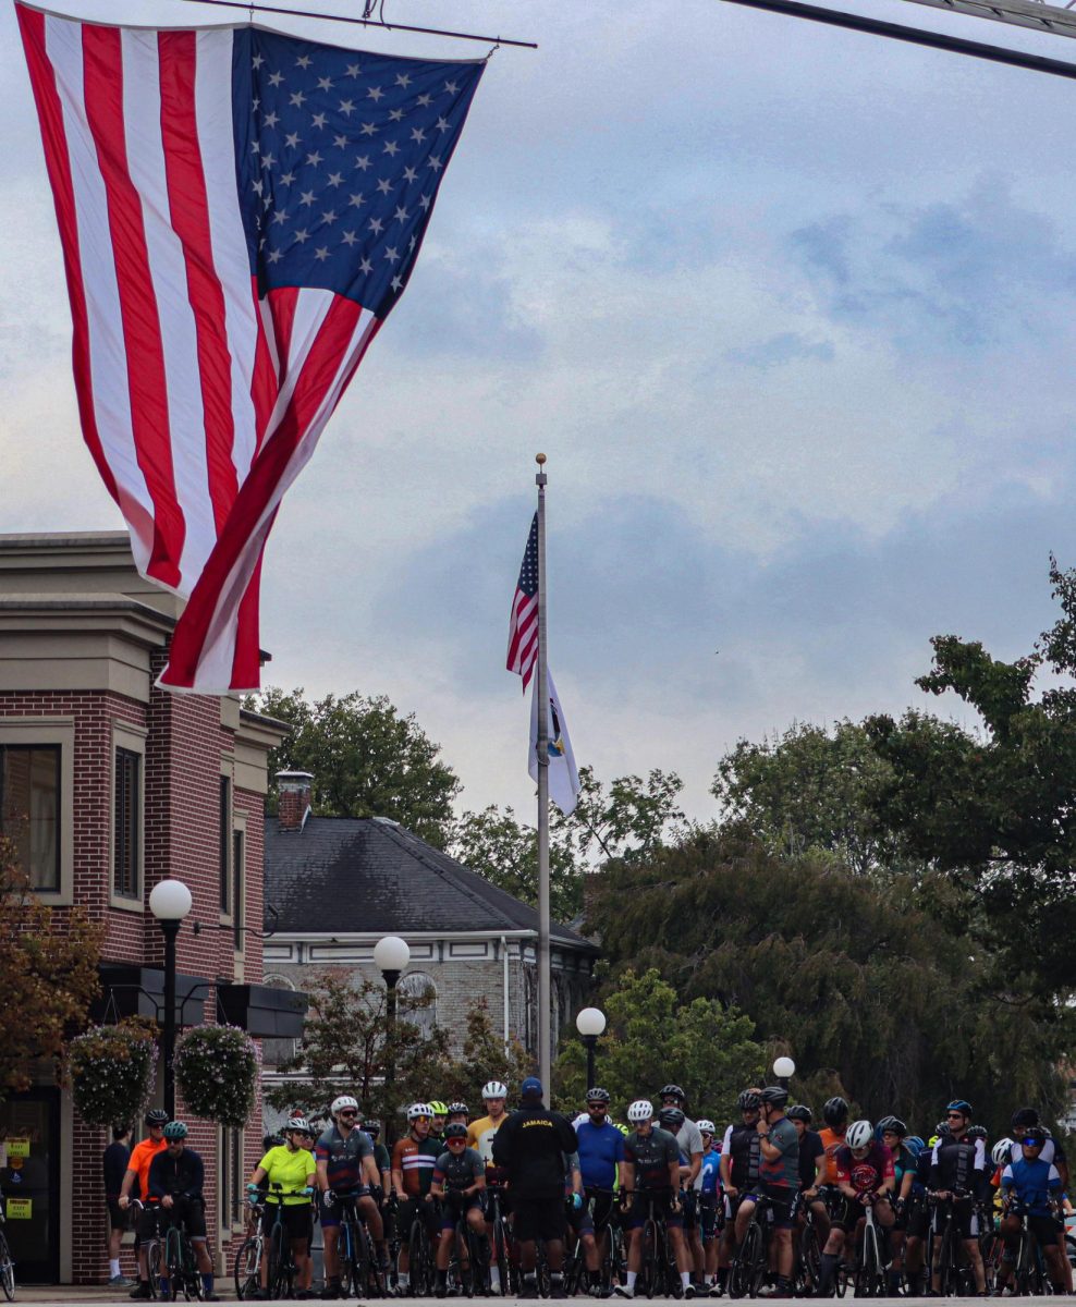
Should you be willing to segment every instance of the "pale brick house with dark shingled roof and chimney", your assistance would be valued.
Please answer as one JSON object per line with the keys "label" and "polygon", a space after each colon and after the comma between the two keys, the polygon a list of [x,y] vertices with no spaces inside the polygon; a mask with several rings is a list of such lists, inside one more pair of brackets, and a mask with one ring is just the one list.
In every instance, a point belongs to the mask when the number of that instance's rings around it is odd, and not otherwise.
{"label": "pale brick house with dark shingled roof and chimney", "polygon": [[[379,980],[374,945],[399,935],[411,962],[399,992],[433,993],[417,1013],[458,1034],[485,997],[494,1029],[537,1051],[537,912],[384,817],[314,817],[315,778],[280,772],[278,817],[265,818],[265,983],[303,989],[314,972],[343,967]],[[600,950],[553,924],[552,1025],[586,1006]],[[267,1052],[267,1074],[272,1059]]]}

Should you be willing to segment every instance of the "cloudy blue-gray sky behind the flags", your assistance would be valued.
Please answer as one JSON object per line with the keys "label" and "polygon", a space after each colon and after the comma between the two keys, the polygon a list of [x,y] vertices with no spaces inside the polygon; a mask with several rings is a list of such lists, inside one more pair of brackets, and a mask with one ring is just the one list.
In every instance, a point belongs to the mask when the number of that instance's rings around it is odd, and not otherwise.
{"label": "cloudy blue-gray sky behind the flags", "polygon": [[[541,450],[550,664],[600,775],[676,770],[706,817],[740,736],[960,715],[913,685],[930,637],[1024,652],[1050,550],[1076,565],[1076,85],[722,0],[386,3],[540,50],[490,61],[408,294],[285,499],[267,684],[386,693],[464,806],[530,812],[503,656]],[[1064,38],[859,8],[1076,61]],[[0,114],[3,529],[119,527],[78,433],[10,8]]]}

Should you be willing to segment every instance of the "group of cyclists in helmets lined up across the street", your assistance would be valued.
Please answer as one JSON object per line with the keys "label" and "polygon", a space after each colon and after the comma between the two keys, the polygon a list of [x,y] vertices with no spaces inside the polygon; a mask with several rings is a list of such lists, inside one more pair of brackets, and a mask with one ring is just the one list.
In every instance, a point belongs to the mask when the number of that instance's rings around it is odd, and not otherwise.
{"label": "group of cyclists in helmets lined up across the street", "polygon": [[[660,1293],[824,1298],[843,1293],[855,1274],[864,1225],[883,1253],[880,1278],[869,1289],[852,1281],[858,1293],[937,1295],[962,1285],[982,1297],[1009,1294],[1018,1287],[1015,1264],[1028,1238],[1043,1282],[1072,1291],[1063,1221],[1068,1167],[1030,1107],[1015,1112],[1011,1136],[988,1149],[965,1099],[950,1102],[924,1138],[894,1115],[850,1120],[839,1097],[825,1103],[816,1131],[811,1110],[790,1104],[781,1085],[745,1089],[737,1119],[723,1129],[690,1119],[675,1084],[662,1087],[656,1104],[630,1103],[622,1124],[611,1119],[611,1095],[600,1087],[587,1091],[574,1120],[545,1107],[533,1077],[520,1085],[514,1111],[499,1081],[486,1084],[481,1097],[484,1112],[473,1119],[462,1102],[412,1103],[407,1133],[391,1150],[379,1123],[362,1120],[349,1094],[332,1102],[324,1129],[293,1115],[282,1137],[267,1137],[247,1191],[252,1205],[285,1223],[297,1297],[315,1293],[315,1217],[324,1248],[320,1297],[341,1295],[344,1213],[369,1231],[379,1282],[400,1297],[452,1293],[450,1268],[460,1264],[464,1236],[484,1261],[479,1291],[652,1294],[646,1265],[659,1230],[667,1255]],[[160,1111],[146,1117],[149,1138],[131,1154],[120,1205],[128,1180],[144,1171],[141,1192],[160,1202],[161,1214],[186,1221],[205,1294],[214,1300],[201,1162],[184,1145],[183,1123],[161,1117]],[[140,1218],[145,1238],[150,1219],[148,1206]],[[433,1249],[429,1287],[424,1268],[409,1264],[416,1223]],[[960,1278],[948,1274],[947,1255],[960,1264]],[[753,1278],[743,1273],[747,1256],[757,1263]],[[570,1276],[566,1264],[575,1268]],[[152,1297],[143,1260],[139,1270],[131,1297]],[[250,1297],[271,1293],[263,1273]]]}

